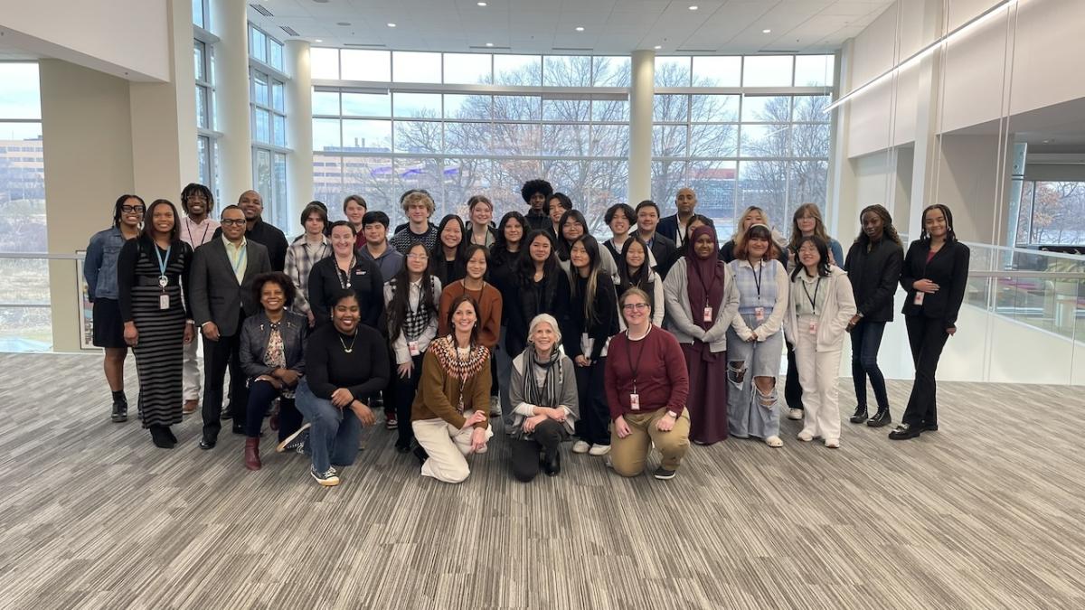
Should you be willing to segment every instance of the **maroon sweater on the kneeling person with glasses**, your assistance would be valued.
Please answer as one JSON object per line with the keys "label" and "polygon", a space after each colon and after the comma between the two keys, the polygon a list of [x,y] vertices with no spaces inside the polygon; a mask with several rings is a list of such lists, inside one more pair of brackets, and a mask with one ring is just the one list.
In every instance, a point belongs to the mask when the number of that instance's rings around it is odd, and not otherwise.
{"label": "maroon sweater on the kneeling person with glasses", "polygon": [[673,334],[653,326],[640,341],[629,341],[624,332],[611,339],[607,348],[607,404],[611,419],[634,412],[629,408],[634,367],[640,395],[640,409],[636,412],[666,407],[676,416],[681,415],[689,395],[686,357]]}

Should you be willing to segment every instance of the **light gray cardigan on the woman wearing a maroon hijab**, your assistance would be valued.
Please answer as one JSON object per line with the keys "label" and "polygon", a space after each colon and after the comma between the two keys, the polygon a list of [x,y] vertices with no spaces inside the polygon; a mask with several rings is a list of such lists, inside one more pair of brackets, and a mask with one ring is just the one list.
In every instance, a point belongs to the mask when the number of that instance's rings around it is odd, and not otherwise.
{"label": "light gray cardigan on the woman wearing a maroon hijab", "polygon": [[667,330],[675,335],[678,343],[693,343],[695,338],[707,343],[709,350],[712,352],[726,352],[727,329],[730,328],[731,321],[739,313],[740,301],[730,266],[724,265],[724,302],[719,310],[716,312],[716,320],[709,330],[703,330],[693,323],[693,316],[701,315],[701,312],[693,312],[690,307],[688,272],[689,269],[686,267],[686,257],[684,256],[671,267],[667,279],[663,281],[663,296],[667,304]]}

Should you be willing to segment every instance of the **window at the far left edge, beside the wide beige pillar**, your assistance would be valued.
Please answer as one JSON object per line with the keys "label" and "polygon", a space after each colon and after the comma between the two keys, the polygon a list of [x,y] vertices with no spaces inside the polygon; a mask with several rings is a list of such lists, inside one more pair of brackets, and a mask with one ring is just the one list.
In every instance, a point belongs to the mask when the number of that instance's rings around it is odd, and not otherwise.
{"label": "window at the far left edge, beside the wide beige pillar", "polygon": [[[47,252],[38,64],[0,62],[0,252]],[[52,345],[47,263],[0,258],[0,351]]]}

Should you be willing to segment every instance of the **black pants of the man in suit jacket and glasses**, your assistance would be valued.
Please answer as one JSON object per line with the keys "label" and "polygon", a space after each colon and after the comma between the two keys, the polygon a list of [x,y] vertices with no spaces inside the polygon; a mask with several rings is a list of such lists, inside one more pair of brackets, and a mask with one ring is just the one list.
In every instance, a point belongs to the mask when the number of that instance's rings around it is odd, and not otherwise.
{"label": "black pants of the man in suit jacket and glasses", "polygon": [[245,411],[248,408],[248,390],[245,387],[245,376],[241,372],[241,325],[238,333],[230,336],[219,336],[210,341],[204,336],[204,439],[218,439],[222,429],[222,382],[226,370],[230,370],[230,415],[237,425],[245,424]]}

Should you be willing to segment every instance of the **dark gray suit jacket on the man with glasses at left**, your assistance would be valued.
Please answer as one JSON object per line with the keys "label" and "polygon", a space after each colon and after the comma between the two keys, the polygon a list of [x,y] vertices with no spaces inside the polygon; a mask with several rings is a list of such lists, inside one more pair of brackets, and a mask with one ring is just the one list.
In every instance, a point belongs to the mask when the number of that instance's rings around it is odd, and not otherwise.
{"label": "dark gray suit jacket on the man with glasses at left", "polygon": [[192,288],[189,290],[196,326],[215,322],[222,336],[241,332],[238,328],[239,314],[243,312],[245,316],[252,316],[259,310],[259,303],[253,296],[253,280],[270,270],[268,249],[251,239],[245,240],[245,276],[241,283],[233,274],[233,265],[221,239],[197,247],[192,257]]}

